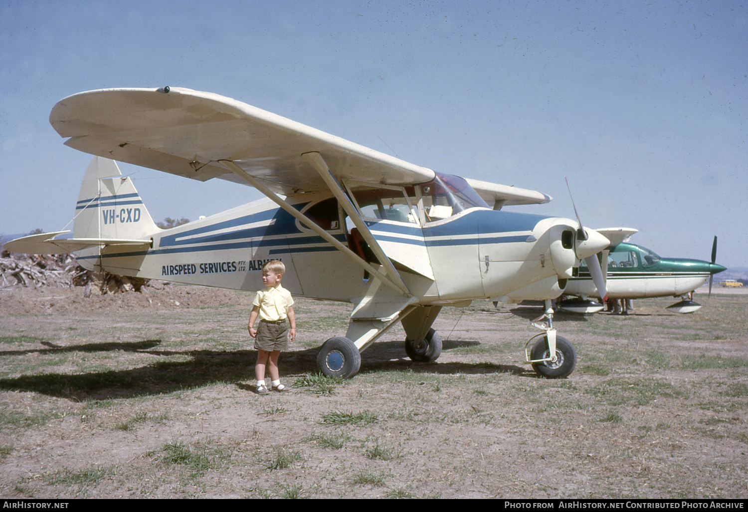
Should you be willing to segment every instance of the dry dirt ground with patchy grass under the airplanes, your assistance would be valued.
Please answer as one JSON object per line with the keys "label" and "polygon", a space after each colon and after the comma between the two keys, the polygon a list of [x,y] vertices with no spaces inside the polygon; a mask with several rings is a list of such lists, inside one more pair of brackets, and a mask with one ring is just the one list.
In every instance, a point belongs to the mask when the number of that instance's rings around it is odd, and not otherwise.
{"label": "dry dirt ground with patchy grass under the airplanes", "polygon": [[748,290],[559,314],[564,380],[524,362],[538,308],[476,302],[436,320],[437,362],[398,328],[325,381],[351,307],[299,299],[293,391],[258,396],[251,295],[160,288],[0,290],[0,496],[748,497]]}

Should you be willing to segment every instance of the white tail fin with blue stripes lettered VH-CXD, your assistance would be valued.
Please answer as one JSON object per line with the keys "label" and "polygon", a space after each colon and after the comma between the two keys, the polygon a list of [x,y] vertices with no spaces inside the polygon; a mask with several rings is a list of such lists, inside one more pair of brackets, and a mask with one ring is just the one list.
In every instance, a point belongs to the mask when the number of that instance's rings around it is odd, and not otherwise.
{"label": "white tail fin with blue stripes lettered VH-CXD", "polygon": [[94,156],[81,183],[73,238],[139,239],[159,227],[114,160]]}

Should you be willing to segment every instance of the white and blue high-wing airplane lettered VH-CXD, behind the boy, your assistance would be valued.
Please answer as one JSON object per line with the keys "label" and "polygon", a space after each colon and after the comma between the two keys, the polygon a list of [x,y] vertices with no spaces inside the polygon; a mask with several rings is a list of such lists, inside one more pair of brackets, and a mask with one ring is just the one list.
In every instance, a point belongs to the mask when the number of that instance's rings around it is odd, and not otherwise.
{"label": "white and blue high-wing airplane lettered VH-CXD, behind the boy", "polygon": [[[283,286],[295,296],[355,305],[346,335],[319,350],[328,376],[355,375],[361,351],[398,322],[408,356],[435,361],[441,308],[503,297],[545,301],[525,359],[542,376],[566,377],[577,357],[557,335],[551,299],[580,260],[605,295],[595,255],[607,237],[578,216],[501,210],[551,200],[540,192],[441,174],[186,88],[82,92],[60,100],[49,121],[65,144],[95,155],[73,234],[32,235],[6,249],[74,252],[87,269],[233,290],[260,289],[263,262],[282,260]],[[269,201],[162,230],[114,160],[254,186]]]}

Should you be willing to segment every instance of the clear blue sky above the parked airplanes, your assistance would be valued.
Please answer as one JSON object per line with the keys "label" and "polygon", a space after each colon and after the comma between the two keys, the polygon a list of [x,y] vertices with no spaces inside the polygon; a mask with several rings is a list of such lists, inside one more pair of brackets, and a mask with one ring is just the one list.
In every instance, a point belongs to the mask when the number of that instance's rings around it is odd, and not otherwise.
{"label": "clear blue sky above the parked airplanes", "polygon": [[[748,266],[747,48],[733,1],[3,0],[0,234],[73,217],[91,156],[58,100],[170,85],[554,197],[522,211],[573,217],[566,176],[585,225]],[[261,197],[120,168],[156,220]]]}

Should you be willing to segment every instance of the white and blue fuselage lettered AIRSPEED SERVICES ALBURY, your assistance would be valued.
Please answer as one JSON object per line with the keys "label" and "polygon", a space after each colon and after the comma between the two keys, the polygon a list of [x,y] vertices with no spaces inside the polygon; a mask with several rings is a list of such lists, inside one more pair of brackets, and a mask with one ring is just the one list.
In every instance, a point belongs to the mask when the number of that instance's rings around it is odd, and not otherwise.
{"label": "white and blue fuselage lettered AIRSPEED SERVICES ALBURY", "polygon": [[[294,207],[304,212],[322,201],[325,198],[296,202]],[[108,210],[99,213],[107,216],[107,222]],[[133,219],[129,222],[138,222]],[[125,216],[124,221],[114,222],[126,221]],[[323,225],[341,243],[350,243],[344,216]],[[527,287],[524,293],[533,298],[538,293],[558,296],[561,288],[550,249],[552,228],[557,225],[573,222],[486,208],[470,208],[423,227],[417,222],[367,221],[422,304],[504,296]],[[105,270],[121,275],[258,290],[263,287],[263,263],[278,259],[286,265],[283,286],[296,296],[346,302],[360,299],[370,284],[371,276],[349,257],[270,201],[247,204],[152,237],[147,251],[108,247],[99,255],[91,249],[82,252],[79,260],[95,266],[101,257]],[[567,263],[573,262],[573,250],[568,253]]]}

